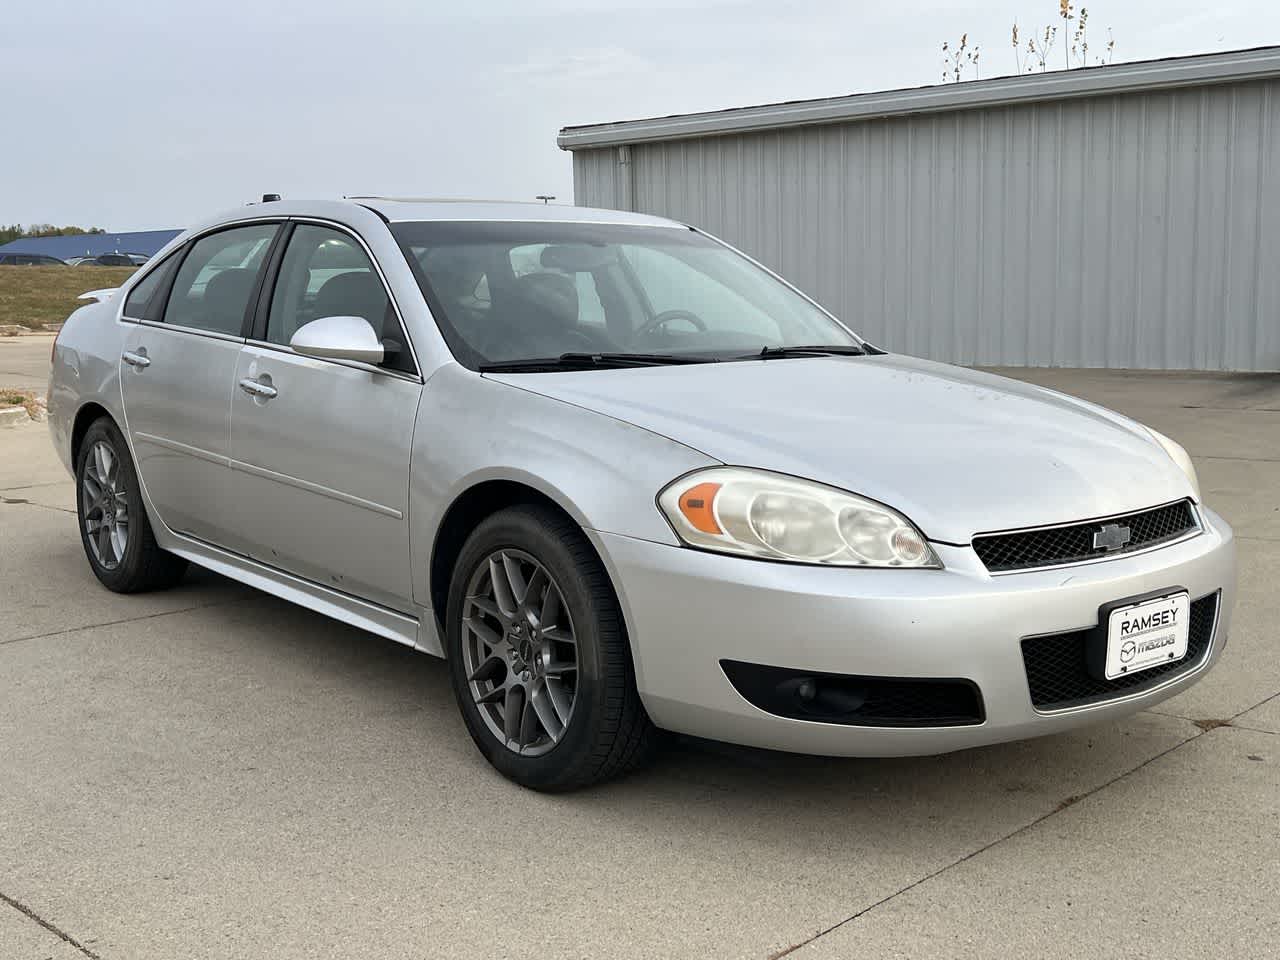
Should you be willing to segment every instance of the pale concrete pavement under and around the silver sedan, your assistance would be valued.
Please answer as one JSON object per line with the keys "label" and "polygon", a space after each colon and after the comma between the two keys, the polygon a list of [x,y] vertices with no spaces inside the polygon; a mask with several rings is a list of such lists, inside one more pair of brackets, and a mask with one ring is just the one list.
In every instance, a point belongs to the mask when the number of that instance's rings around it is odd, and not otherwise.
{"label": "pale concrete pavement under and around the silver sedan", "polygon": [[442,662],[209,573],[102,590],[45,428],[0,431],[0,956],[1280,954],[1280,378],[1018,374],[1196,456],[1242,566],[1202,684],[941,758],[681,741],[563,797],[484,764]]}

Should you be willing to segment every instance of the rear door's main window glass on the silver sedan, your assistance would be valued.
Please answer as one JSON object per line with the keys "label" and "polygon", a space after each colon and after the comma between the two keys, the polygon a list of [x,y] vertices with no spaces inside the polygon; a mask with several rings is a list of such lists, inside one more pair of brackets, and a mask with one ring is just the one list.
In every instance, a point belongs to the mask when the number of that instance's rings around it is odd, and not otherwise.
{"label": "rear door's main window glass on the silver sedan", "polygon": [[164,321],[239,337],[276,227],[234,227],[196,241],[178,268]]}

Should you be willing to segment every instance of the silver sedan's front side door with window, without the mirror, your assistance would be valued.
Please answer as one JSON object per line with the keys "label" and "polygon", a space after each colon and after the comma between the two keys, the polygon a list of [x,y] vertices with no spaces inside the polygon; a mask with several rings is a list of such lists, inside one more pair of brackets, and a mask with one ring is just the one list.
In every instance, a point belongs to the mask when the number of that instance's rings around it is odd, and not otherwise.
{"label": "silver sedan's front side door with window, without the mirror", "polygon": [[[421,379],[360,238],[329,224],[288,229],[257,329],[236,369],[236,535],[251,557],[404,608],[408,467]],[[323,316],[366,319],[383,338],[387,361],[372,366],[294,353],[288,344],[297,329]]]}

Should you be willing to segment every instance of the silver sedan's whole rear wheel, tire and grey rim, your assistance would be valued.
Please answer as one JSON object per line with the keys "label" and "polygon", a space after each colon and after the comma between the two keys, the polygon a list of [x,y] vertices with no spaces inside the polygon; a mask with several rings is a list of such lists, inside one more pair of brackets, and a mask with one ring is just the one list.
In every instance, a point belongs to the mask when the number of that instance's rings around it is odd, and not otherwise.
{"label": "silver sedan's whole rear wheel, tire and grey rim", "polygon": [[81,442],[76,508],[84,556],[109,590],[137,593],[182,580],[187,561],[156,544],[129,449],[106,417],[95,421]]}

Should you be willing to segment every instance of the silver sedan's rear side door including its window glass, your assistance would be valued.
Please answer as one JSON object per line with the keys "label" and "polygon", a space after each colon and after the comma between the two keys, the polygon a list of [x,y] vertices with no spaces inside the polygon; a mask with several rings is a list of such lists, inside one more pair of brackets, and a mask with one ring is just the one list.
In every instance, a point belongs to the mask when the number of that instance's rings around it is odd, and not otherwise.
{"label": "silver sedan's rear side door including its window glass", "polygon": [[238,549],[228,522],[236,362],[279,223],[210,233],[129,293],[134,321],[120,358],[129,439],[164,524]]}

